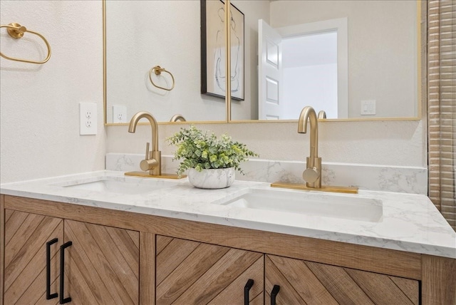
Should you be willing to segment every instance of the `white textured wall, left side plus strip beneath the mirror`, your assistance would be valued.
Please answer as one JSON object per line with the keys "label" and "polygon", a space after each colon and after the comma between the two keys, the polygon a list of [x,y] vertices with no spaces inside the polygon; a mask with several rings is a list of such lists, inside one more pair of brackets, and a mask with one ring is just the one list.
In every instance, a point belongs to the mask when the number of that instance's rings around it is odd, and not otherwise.
{"label": "white textured wall, left side plus strip beneath the mirror", "polygon": [[[42,66],[1,59],[1,183],[101,170],[105,153],[142,153],[150,127],[103,128],[100,1],[1,1],[1,24],[40,31],[53,48]],[[3,29],[2,29],[3,30]],[[1,43],[11,43],[2,31]],[[7,35],[7,34],[6,34]],[[3,48],[2,48],[3,51]],[[78,134],[78,102],[98,104],[98,135]],[[305,160],[309,135],[296,123],[202,125],[229,133],[264,159]],[[164,138],[180,125],[160,125]],[[323,162],[426,166],[425,121],[326,122],[319,125]],[[105,137],[106,133],[106,137]]]}

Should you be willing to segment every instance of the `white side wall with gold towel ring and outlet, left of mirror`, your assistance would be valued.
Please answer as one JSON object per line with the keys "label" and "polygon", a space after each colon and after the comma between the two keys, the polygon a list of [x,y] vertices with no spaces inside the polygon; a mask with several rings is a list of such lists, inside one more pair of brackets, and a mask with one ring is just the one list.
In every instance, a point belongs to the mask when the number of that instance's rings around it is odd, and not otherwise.
{"label": "white side wall with gold towel ring and outlet, left of mirror", "polygon": [[[0,182],[103,170],[101,1],[1,0],[0,24],[11,22],[46,37],[52,55],[43,65],[0,59]],[[46,57],[30,33],[0,35],[10,57]],[[97,135],[79,135],[79,102],[97,103]]]}

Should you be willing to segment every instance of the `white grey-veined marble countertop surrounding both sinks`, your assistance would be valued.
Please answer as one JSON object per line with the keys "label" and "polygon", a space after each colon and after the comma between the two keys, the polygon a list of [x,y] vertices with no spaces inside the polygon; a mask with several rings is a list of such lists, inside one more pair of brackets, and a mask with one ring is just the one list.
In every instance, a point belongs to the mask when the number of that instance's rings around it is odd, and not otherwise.
{"label": "white grey-veined marble countertop surrounding both sinks", "polygon": [[[68,187],[97,180],[130,182],[133,192],[88,190]],[[153,182],[153,187],[148,187]],[[269,183],[235,181],[222,190],[200,190],[187,179],[157,180],[128,177],[123,172],[103,170],[78,175],[52,177],[0,185],[4,195],[102,207],[162,217],[194,220],[232,227],[314,237],[385,249],[456,259],[456,233],[425,195],[360,190],[358,195],[314,192],[315,197],[331,196],[380,200],[383,214],[378,221],[254,210],[215,204],[247,190],[269,190]],[[274,189],[277,192],[304,192]],[[278,202],[280,205],[280,202]]]}

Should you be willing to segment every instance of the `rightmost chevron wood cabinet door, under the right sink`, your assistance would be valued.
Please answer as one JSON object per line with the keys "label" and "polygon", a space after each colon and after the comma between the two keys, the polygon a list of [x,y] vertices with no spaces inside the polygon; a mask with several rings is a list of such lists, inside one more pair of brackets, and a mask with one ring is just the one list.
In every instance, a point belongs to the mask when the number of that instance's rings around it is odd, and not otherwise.
{"label": "rightmost chevron wood cabinet door, under the right sink", "polygon": [[299,259],[266,255],[265,289],[269,304],[419,304],[419,282]]}

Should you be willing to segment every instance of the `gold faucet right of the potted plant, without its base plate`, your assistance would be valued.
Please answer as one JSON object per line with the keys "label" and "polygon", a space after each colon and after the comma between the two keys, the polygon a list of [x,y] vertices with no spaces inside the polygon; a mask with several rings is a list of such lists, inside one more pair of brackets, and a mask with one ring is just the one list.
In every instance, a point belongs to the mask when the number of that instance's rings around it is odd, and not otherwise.
{"label": "gold faucet right of the potted plant, without its base plate", "polygon": [[318,157],[318,120],[314,108],[306,106],[301,110],[298,120],[298,133],[307,133],[307,121],[311,125],[311,154],[306,159],[306,170],[302,177],[307,187],[321,188],[321,157]]}

